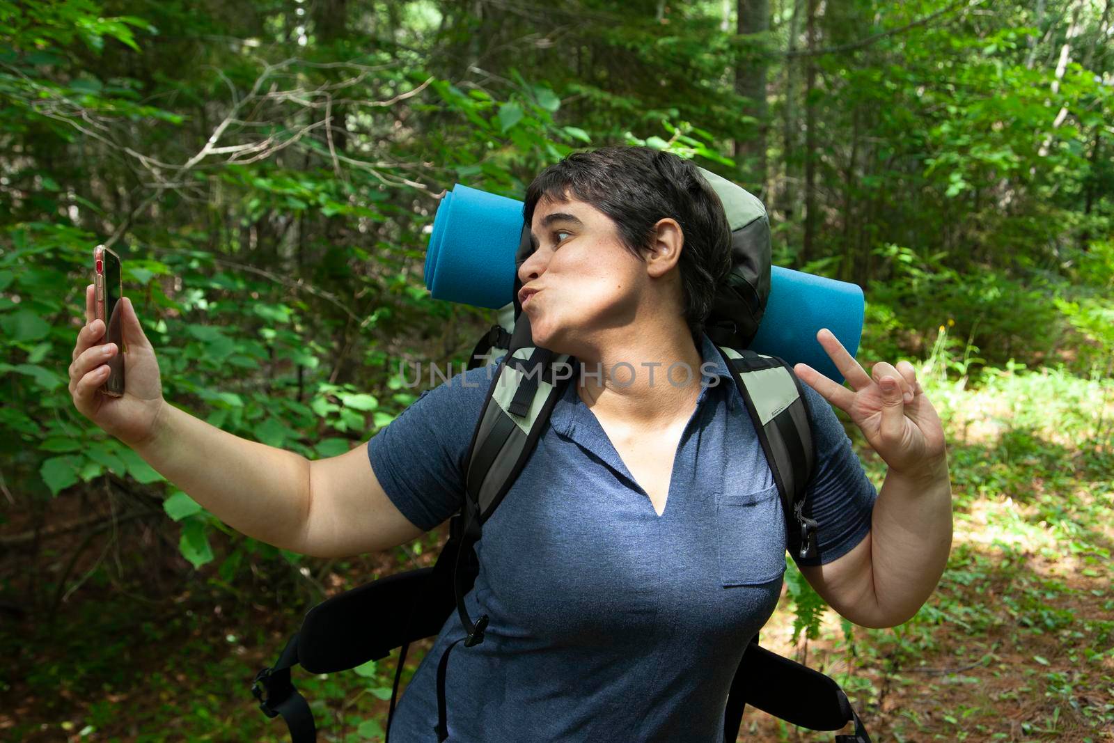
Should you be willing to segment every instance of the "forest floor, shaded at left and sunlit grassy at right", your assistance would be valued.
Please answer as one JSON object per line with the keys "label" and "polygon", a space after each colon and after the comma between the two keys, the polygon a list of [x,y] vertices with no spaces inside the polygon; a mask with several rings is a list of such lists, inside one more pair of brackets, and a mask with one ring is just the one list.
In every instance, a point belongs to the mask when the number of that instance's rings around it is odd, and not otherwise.
{"label": "forest floor, shaded at left and sunlit grassy at right", "polygon": [[[1114,385],[1042,371],[991,374],[977,390],[925,387],[947,427],[955,497],[938,589],[900,627],[852,627],[829,609],[815,637],[795,642],[783,594],[762,644],[836,678],[874,741],[1114,741]],[[849,429],[881,487],[885,466],[858,433]],[[51,508],[82,512],[76,498]],[[304,584],[332,595],[427,564],[443,536],[319,563]],[[51,548],[66,556],[74,546]],[[300,590],[281,560],[268,563],[275,575],[241,570],[229,581],[215,568],[221,555],[201,571],[204,580],[182,590],[188,564],[175,548],[157,529],[121,527],[111,542],[94,539],[75,565],[71,575],[87,579],[60,603],[57,622],[0,612],[0,740],[289,741],[248,687],[301,622],[299,608],[274,607],[320,599]],[[111,578],[121,555],[157,566],[149,585],[125,590]],[[152,600],[160,580],[177,588]],[[228,608],[214,602],[222,595]],[[411,648],[403,684],[430,644]],[[381,740],[393,672],[394,656],[360,673],[296,669],[319,740]],[[832,735],[747,707],[739,740]]]}

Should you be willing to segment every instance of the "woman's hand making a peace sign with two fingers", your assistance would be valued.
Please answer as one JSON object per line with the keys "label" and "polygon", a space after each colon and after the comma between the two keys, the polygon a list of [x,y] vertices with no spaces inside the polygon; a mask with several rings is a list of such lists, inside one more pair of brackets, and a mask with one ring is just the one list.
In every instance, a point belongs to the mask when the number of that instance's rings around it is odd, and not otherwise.
{"label": "woman's hand making a peace sign with two fingers", "polygon": [[804,363],[793,366],[797,375],[850,416],[890,469],[908,476],[936,472],[947,458],[944,427],[913,365],[899,361],[895,368],[880,361],[868,375],[827,327],[817,333],[817,340],[854,391]]}

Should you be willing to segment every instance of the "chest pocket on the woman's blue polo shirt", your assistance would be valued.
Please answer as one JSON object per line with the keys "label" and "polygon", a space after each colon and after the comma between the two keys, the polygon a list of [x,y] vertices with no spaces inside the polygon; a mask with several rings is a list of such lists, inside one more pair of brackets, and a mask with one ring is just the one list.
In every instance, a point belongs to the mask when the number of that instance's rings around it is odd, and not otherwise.
{"label": "chest pocket on the woman's blue polo shirt", "polygon": [[776,485],[716,493],[715,532],[724,586],[759,586],[785,571],[785,521]]}

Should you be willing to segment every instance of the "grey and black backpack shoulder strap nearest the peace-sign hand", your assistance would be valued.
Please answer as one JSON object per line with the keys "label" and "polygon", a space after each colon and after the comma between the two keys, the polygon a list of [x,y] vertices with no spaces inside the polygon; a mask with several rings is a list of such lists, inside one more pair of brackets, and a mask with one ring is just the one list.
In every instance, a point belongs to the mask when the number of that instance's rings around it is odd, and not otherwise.
{"label": "grey and black backpack shoulder strap nearest the peace-sign hand", "polygon": [[750,349],[716,346],[727,361],[746,410],[754,421],[762,451],[781,493],[785,529],[801,535],[799,557],[815,557],[817,522],[804,515],[808,487],[815,473],[815,442],[809,403],[792,368],[779,356]]}

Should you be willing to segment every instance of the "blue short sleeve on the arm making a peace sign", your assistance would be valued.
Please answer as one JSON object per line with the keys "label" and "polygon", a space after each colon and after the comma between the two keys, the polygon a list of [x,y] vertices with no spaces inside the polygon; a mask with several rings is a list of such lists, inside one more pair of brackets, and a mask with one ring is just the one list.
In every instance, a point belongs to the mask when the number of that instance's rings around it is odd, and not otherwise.
{"label": "blue short sleeve on the arm making a peace sign", "polygon": [[798,557],[801,537],[790,529],[788,545],[798,565],[825,565],[851,551],[870,531],[878,489],[867,478],[843,423],[831,403],[801,382],[817,446],[817,472],[808,490],[805,515],[815,519],[817,557]]}

